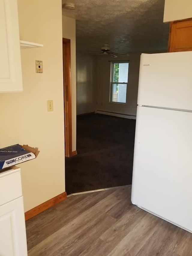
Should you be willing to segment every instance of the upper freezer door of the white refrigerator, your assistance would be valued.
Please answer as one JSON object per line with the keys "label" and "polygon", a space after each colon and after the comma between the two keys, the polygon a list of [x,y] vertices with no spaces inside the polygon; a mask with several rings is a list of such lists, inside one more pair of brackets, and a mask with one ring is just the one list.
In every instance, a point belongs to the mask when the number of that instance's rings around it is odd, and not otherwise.
{"label": "upper freezer door of the white refrigerator", "polygon": [[142,54],[137,104],[192,110],[192,51]]}

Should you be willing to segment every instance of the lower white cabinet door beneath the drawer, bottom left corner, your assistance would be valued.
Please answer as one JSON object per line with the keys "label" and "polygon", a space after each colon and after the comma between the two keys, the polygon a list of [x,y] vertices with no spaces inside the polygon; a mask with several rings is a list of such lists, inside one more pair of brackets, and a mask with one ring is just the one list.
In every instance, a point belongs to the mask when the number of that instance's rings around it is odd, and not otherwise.
{"label": "lower white cabinet door beneath the drawer, bottom left corner", "polygon": [[0,255],[27,256],[22,197],[0,206]]}

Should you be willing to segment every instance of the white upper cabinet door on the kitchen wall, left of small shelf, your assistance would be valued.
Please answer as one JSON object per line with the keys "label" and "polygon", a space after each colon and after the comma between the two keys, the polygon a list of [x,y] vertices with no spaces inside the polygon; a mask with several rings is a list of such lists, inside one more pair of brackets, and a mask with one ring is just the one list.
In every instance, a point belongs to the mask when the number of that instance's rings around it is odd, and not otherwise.
{"label": "white upper cabinet door on the kitchen wall, left of small shelf", "polygon": [[0,0],[0,92],[22,91],[16,0]]}

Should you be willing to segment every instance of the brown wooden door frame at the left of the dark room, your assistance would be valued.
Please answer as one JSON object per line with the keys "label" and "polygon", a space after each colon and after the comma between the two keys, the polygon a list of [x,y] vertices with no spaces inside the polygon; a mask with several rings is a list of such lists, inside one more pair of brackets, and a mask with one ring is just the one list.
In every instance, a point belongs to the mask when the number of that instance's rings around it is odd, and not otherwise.
{"label": "brown wooden door frame at the left of the dark room", "polygon": [[63,92],[64,92],[64,134],[65,156],[72,152],[72,105],[71,105],[71,47],[70,39],[63,38]]}

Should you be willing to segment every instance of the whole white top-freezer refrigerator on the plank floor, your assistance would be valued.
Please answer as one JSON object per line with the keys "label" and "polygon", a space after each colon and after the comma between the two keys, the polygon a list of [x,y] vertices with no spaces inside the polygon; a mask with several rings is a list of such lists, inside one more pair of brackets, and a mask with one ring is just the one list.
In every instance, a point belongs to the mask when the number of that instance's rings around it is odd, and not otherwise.
{"label": "whole white top-freezer refrigerator on the plank floor", "polygon": [[192,232],[192,52],[141,55],[131,201]]}

